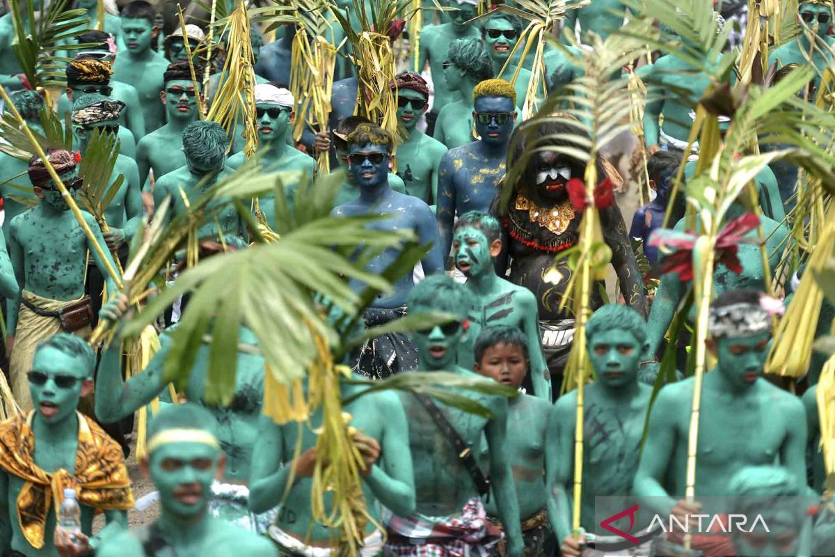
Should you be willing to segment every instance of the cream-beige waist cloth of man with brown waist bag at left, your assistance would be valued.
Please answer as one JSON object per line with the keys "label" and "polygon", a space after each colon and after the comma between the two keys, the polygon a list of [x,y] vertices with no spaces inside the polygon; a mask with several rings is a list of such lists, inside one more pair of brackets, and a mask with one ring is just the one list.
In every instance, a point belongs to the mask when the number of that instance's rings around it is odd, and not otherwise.
{"label": "cream-beige waist cloth of man with brown waist bag at left", "polygon": [[[73,304],[81,300],[60,301],[37,296],[30,291],[24,290],[21,296],[43,311],[59,311],[63,306]],[[83,297],[83,296],[82,296]],[[38,343],[49,337],[62,332],[61,322],[58,317],[39,316],[23,304],[18,309],[18,328],[14,336],[12,354],[9,356],[9,377],[12,378],[12,393],[18,406],[27,413],[32,410],[32,396],[29,394],[28,372],[32,371],[32,359],[35,355],[35,348]],[[87,338],[92,331],[90,327],[83,327],[72,334],[76,337]]]}

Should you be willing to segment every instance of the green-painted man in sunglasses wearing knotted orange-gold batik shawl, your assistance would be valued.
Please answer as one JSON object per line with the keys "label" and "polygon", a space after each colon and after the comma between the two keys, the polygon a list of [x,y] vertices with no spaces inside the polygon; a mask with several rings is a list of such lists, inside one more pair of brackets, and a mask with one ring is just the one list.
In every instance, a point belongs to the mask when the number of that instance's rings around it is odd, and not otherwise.
{"label": "green-painted man in sunglasses wearing knotted orange-gold batik shawl", "polygon": [[38,344],[27,373],[34,409],[0,424],[0,551],[58,557],[56,511],[81,508],[80,545],[89,548],[95,513],[127,527],[134,506],[122,449],[78,401],[93,390],[95,355],[81,338],[58,333]]}

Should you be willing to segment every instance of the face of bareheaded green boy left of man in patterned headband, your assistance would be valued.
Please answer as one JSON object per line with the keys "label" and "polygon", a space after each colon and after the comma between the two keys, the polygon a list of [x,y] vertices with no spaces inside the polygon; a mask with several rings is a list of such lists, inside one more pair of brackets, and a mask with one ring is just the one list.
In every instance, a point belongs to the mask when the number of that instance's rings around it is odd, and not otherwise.
{"label": "face of bareheaded green boy left of man in patterned headband", "polygon": [[605,387],[635,383],[640,365],[641,344],[630,331],[610,329],[589,339],[589,358],[598,380]]}

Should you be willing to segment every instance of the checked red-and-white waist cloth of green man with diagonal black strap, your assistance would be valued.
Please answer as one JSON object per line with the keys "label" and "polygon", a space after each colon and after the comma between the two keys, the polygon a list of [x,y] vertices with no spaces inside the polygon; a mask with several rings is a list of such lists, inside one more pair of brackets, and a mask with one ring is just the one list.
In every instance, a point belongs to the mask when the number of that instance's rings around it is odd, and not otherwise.
{"label": "checked red-and-white waist cloth of green man with diagonal black strap", "polygon": [[487,519],[478,497],[468,500],[461,514],[441,519],[422,515],[402,518],[383,509],[388,528],[387,555],[404,557],[487,557],[502,539],[501,530]]}

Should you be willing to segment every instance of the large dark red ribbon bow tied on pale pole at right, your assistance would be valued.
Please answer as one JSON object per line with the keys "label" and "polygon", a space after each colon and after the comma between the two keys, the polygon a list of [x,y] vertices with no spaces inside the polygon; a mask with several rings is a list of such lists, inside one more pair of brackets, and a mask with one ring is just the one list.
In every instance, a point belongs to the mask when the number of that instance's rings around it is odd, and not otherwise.
{"label": "large dark red ribbon bow tied on pale pole at right", "polygon": [[[725,228],[716,236],[716,264],[721,263],[728,271],[737,275],[742,272],[742,264],[736,252],[739,251],[741,243],[759,243],[758,239],[746,238],[745,235],[757,228],[760,220],[757,215],[746,213],[734,220],[731,220]],[[676,230],[656,229],[650,235],[650,246],[672,247],[676,251],[665,256],[659,265],[650,271],[651,276],[660,277],[666,273],[678,273],[681,281],[693,280],[693,246],[696,245],[698,236],[690,232],[679,232]]]}

